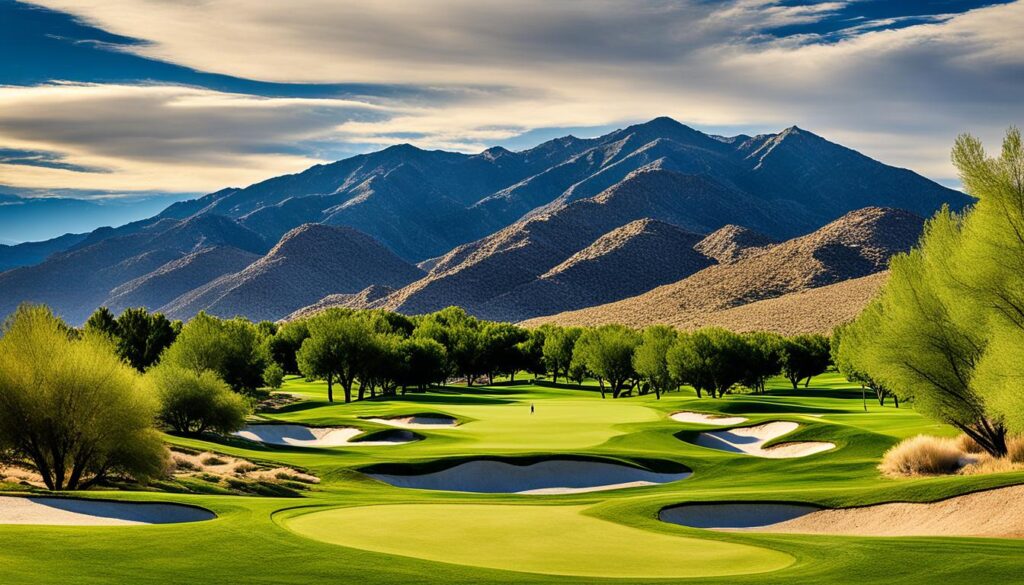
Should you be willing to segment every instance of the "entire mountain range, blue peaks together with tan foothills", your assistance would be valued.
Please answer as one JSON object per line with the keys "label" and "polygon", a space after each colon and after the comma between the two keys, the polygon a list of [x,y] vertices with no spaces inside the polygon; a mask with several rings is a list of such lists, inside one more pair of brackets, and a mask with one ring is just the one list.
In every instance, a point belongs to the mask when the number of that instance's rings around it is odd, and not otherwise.
{"label": "entire mountain range, blue peaks together with tan foothills", "polygon": [[458,304],[684,325],[884,270],[923,216],[970,201],[797,127],[722,137],[657,118],[521,152],[401,144],[0,246],[0,315],[23,301],[72,323],[101,304],[268,320]]}

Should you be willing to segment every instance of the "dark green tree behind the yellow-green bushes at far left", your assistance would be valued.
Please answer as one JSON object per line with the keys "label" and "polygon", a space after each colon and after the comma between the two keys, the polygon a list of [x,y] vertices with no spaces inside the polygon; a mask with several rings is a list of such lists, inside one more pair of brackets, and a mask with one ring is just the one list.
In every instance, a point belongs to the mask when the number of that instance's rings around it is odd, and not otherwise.
{"label": "dark green tree behind the yellow-green bushes at far left", "polygon": [[181,322],[172,323],[162,314],[151,314],[144,308],[126,308],[115,319],[109,308],[101,306],[85,322],[85,331],[110,336],[118,356],[144,372],[177,338]]}

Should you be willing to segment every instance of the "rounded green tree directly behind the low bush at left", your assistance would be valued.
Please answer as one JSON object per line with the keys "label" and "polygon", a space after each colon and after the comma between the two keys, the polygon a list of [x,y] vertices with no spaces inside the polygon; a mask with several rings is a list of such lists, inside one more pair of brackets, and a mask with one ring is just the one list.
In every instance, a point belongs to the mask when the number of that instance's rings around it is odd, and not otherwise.
{"label": "rounded green tree directly behind the low bush at left", "polygon": [[217,374],[237,392],[254,394],[269,363],[264,337],[242,318],[220,320],[200,312],[167,348],[165,361],[197,374]]}

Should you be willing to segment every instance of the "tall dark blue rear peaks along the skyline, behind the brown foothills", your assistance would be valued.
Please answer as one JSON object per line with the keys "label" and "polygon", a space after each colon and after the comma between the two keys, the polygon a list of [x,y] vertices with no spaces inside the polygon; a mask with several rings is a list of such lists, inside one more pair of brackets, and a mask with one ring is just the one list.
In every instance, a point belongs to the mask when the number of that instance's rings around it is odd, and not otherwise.
{"label": "tall dark blue rear peaks along the skyline, behind the brown foothills", "polygon": [[641,169],[700,176],[778,210],[784,220],[764,226],[731,221],[775,239],[806,234],[865,205],[930,215],[943,203],[959,208],[970,202],[800,128],[721,138],[657,118],[518,153],[494,148],[464,155],[398,144],[175,204],[161,216],[224,215],[268,241],[303,223],[344,225],[420,262],[597,196]]}

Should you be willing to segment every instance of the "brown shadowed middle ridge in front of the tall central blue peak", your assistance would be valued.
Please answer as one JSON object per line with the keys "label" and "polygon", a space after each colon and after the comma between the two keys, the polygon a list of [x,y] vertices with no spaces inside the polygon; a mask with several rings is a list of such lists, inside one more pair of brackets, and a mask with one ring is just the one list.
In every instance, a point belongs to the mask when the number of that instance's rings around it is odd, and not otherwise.
{"label": "brown shadowed middle ridge in front of the tall central blue peak", "polygon": [[[424,279],[375,306],[421,314],[458,304],[484,319],[537,317],[543,315],[537,312],[541,307],[524,306],[521,295],[509,291],[540,279],[609,232],[638,219],[654,219],[701,234],[735,217],[759,226],[780,220],[767,205],[708,177],[641,169],[596,197],[534,215],[456,248]],[[693,244],[699,239],[694,238]],[[606,275],[609,282],[616,278]],[[656,284],[638,280],[628,286],[649,289]],[[607,288],[601,294],[613,295]],[[566,297],[561,306],[580,302]]]}

